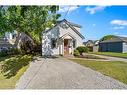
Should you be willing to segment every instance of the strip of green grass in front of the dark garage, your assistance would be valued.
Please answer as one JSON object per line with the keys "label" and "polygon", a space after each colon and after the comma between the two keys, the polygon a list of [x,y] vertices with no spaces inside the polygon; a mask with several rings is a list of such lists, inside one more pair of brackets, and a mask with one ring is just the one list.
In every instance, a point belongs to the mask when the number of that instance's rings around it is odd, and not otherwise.
{"label": "strip of green grass in front of the dark garage", "polygon": [[92,53],[92,54],[108,55],[108,56],[113,56],[113,57],[127,58],[127,53],[96,52],[96,53]]}

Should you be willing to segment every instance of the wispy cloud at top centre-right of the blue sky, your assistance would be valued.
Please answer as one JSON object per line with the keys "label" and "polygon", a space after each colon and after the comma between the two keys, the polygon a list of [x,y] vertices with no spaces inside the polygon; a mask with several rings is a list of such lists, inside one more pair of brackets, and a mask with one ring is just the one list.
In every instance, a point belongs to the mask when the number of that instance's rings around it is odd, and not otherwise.
{"label": "wispy cloud at top centre-right of the blue sky", "polygon": [[90,14],[95,14],[98,11],[103,11],[105,8],[106,6],[86,7],[86,12],[89,12]]}

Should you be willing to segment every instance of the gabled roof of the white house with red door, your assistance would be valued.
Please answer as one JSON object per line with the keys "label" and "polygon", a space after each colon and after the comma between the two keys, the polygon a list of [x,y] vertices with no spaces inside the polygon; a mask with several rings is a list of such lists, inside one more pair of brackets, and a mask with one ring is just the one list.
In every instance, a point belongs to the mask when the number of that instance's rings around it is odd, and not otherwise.
{"label": "gabled roof of the white house with red door", "polygon": [[[76,26],[76,27],[81,28],[81,26],[78,25],[78,24],[74,24],[74,23],[72,23],[72,22],[69,22],[69,21],[67,21],[66,19],[63,19],[63,20],[61,20],[61,21],[58,21],[54,27],[56,27],[57,25],[61,24],[62,22],[65,22],[65,23],[66,23],[74,32],[76,32],[81,38],[83,38],[83,39],[85,38],[85,37],[84,37],[77,29],[75,29],[75,27],[74,27],[74,26]],[[53,27],[53,28],[54,28],[54,27]],[[51,28],[51,29],[53,29],[53,28]],[[48,30],[46,30],[45,32],[48,32],[48,31],[50,31],[51,29],[48,29]]]}

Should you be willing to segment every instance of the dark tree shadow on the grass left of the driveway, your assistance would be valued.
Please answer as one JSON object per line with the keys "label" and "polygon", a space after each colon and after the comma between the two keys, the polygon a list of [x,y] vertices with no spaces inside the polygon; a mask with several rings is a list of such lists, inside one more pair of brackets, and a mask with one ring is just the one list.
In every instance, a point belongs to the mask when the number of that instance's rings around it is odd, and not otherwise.
{"label": "dark tree shadow on the grass left of the driveway", "polygon": [[24,66],[28,65],[32,60],[30,55],[18,55],[2,61],[1,73],[5,78],[11,78]]}

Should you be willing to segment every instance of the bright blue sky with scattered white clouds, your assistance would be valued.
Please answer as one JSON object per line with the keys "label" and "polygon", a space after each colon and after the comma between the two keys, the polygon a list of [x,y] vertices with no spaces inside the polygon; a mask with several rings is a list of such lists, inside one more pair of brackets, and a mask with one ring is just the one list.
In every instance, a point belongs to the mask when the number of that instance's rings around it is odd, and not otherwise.
{"label": "bright blue sky with scattered white clouds", "polygon": [[60,19],[82,26],[85,41],[109,34],[127,36],[127,6],[61,6],[59,12]]}

